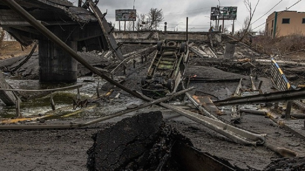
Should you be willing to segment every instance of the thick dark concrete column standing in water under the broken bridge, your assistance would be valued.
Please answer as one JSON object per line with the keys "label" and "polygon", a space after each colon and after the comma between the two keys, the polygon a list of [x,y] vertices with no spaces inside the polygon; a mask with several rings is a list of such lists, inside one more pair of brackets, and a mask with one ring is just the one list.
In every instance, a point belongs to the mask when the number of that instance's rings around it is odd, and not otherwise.
{"label": "thick dark concrete column standing in water under the broken bridge", "polygon": [[[66,43],[77,51],[76,41]],[[39,81],[76,82],[77,61],[50,40],[39,40]]]}

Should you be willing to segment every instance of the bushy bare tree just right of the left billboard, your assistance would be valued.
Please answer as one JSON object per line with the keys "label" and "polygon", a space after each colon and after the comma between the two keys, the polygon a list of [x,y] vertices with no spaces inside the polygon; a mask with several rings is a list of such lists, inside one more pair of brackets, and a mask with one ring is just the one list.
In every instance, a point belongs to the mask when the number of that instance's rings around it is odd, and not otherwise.
{"label": "bushy bare tree just right of the left billboard", "polygon": [[164,15],[162,9],[150,8],[148,14],[148,30],[157,30],[157,28],[161,25],[161,22],[164,21]]}

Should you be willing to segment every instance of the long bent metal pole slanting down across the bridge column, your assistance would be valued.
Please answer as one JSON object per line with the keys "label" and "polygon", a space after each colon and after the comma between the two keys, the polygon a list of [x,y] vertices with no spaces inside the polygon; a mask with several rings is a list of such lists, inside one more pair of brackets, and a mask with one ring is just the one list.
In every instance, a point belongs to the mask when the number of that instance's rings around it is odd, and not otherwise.
{"label": "long bent metal pole slanting down across the bridge column", "polygon": [[55,34],[53,34],[49,29],[47,29],[44,25],[42,25],[39,21],[37,21],[30,13],[28,13],[25,9],[23,9],[15,0],[2,0],[4,4],[10,7],[14,12],[19,14],[22,18],[24,18],[27,22],[29,22],[35,29],[40,31],[43,35],[49,38],[53,43],[59,46],[63,51],[67,52],[71,57],[73,57],[76,61],[84,65],[87,69],[89,69],[94,74],[100,76],[101,78],[105,79],[106,81],[114,84],[115,86],[121,88],[125,92],[137,97],[142,98],[141,95],[138,93],[131,91],[130,89],[124,87],[120,83],[116,82],[115,80],[109,78],[108,76],[101,73],[99,70],[94,68],[90,65],[86,60],[84,60],[81,56],[77,54],[77,52],[73,51],[71,47],[69,47],[66,43],[60,40]]}

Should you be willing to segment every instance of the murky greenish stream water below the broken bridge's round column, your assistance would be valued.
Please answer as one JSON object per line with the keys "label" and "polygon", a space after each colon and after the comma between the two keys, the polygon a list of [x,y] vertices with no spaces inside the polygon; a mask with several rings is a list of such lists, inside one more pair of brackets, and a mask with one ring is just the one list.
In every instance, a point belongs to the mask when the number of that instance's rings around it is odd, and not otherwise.
{"label": "murky greenish stream water below the broken bridge's round column", "polygon": [[[99,78],[91,78],[91,77],[83,77],[77,80],[77,83],[73,84],[42,84],[39,83],[38,80],[16,80],[16,79],[6,79],[7,82],[14,89],[27,89],[27,90],[41,90],[41,89],[52,89],[52,88],[60,88],[67,87],[77,84],[83,84],[83,80],[93,80],[98,81]],[[101,81],[99,86],[101,87],[105,82]],[[81,99],[90,99],[93,94],[96,93],[97,83],[92,83],[88,85],[84,85],[79,88]],[[28,100],[21,102],[20,104],[20,112],[22,116],[32,116],[32,115],[45,115],[47,112],[51,111],[50,105],[50,94],[44,93],[39,95],[37,93],[31,92],[20,92],[20,94],[24,97],[27,97]],[[67,110],[67,112],[73,112],[73,100],[76,100],[77,97],[77,89],[69,89],[61,92],[53,92],[53,100],[55,103],[56,109],[63,108],[63,110]],[[71,107],[68,107],[71,106]],[[16,114],[15,106],[7,107],[0,102],[0,118],[11,118]]]}

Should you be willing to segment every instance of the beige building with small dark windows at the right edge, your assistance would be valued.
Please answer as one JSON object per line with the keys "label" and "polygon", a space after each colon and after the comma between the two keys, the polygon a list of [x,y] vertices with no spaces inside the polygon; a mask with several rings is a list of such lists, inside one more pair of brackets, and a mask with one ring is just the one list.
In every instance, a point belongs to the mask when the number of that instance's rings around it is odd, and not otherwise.
{"label": "beige building with small dark windows at the right edge", "polygon": [[266,20],[265,30],[266,34],[273,37],[294,33],[305,34],[305,12],[273,12]]}

